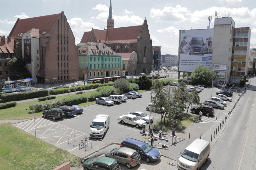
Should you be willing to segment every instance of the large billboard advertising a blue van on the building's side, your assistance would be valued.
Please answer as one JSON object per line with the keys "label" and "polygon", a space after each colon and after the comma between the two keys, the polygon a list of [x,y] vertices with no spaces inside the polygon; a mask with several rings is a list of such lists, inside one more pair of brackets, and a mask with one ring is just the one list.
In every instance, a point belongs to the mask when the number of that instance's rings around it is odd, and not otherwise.
{"label": "large billboard advertising a blue van on the building's side", "polygon": [[213,29],[180,30],[180,71],[193,72],[199,65],[212,68],[213,32]]}

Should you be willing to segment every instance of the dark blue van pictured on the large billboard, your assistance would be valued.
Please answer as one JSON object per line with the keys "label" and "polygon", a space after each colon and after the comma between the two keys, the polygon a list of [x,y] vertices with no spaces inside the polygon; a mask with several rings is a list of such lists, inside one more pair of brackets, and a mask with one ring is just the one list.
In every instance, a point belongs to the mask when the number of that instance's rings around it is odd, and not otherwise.
{"label": "dark blue van pictured on the large billboard", "polygon": [[192,37],[190,42],[189,55],[201,54],[204,55],[204,39],[203,37]]}

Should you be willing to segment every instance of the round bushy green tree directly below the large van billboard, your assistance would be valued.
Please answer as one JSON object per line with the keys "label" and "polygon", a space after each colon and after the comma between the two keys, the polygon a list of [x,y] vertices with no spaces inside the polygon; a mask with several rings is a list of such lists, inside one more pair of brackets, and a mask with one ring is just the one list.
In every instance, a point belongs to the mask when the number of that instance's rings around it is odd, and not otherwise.
{"label": "round bushy green tree directly below the large van billboard", "polygon": [[196,66],[193,73],[190,75],[191,82],[194,84],[212,84],[213,73],[211,68]]}

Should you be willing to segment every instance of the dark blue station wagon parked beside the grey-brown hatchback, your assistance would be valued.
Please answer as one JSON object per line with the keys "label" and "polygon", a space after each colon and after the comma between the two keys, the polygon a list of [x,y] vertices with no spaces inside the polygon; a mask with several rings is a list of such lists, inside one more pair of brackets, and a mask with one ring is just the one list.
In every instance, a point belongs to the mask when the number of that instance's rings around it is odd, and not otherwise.
{"label": "dark blue station wagon parked beside the grey-brown hatchback", "polygon": [[157,149],[137,139],[126,138],[121,142],[120,147],[132,148],[139,151],[140,158],[148,163],[158,161],[161,158],[161,153]]}

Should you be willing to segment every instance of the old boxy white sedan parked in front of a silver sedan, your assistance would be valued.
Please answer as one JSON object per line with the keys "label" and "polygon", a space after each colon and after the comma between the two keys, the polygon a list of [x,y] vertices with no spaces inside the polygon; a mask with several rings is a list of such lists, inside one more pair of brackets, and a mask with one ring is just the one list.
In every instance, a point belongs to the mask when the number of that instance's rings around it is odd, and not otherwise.
{"label": "old boxy white sedan parked in front of a silver sedan", "polygon": [[126,114],[117,117],[117,120],[120,121],[122,124],[128,123],[131,125],[135,125],[136,127],[141,127],[142,124],[146,123],[146,121],[139,119],[139,117],[133,115],[133,114]]}

